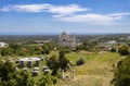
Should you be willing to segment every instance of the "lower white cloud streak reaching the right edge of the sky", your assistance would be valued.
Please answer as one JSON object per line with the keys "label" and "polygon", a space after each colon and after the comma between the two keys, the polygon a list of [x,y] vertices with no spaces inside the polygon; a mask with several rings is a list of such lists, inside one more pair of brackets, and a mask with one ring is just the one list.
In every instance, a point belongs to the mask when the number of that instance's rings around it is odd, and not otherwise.
{"label": "lower white cloud streak reaching the right edge of the sky", "polygon": [[123,16],[130,15],[130,13],[115,13],[115,14],[74,14],[70,16],[58,17],[63,22],[87,22],[89,24],[113,24],[122,20]]}

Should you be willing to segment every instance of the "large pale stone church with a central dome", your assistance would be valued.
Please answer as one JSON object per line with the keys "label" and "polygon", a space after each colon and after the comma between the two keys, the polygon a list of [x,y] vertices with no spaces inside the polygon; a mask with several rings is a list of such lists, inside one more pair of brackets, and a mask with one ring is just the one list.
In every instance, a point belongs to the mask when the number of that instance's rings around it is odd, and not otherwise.
{"label": "large pale stone church with a central dome", "polygon": [[75,36],[69,36],[66,30],[62,33],[61,36],[58,36],[58,45],[61,47],[69,47],[69,48],[75,48],[76,47],[76,38]]}

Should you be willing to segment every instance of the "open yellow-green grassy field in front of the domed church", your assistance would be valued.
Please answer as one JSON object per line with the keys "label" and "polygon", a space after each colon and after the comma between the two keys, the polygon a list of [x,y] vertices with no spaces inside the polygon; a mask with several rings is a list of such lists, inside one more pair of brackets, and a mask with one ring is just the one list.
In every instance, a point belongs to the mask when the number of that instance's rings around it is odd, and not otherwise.
{"label": "open yellow-green grassy field in front of the domed church", "polygon": [[55,86],[109,86],[114,74],[112,65],[121,59],[118,53],[86,51],[67,53],[66,58],[73,62],[83,58],[87,63],[73,67],[76,71],[75,79],[60,81]]}

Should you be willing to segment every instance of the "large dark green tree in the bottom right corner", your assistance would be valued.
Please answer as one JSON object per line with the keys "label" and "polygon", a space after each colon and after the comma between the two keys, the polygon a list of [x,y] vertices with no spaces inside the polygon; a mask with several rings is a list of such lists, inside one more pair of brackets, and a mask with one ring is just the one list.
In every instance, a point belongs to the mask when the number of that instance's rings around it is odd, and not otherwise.
{"label": "large dark green tree in the bottom right corner", "polygon": [[114,86],[130,86],[130,56],[117,64],[112,84]]}

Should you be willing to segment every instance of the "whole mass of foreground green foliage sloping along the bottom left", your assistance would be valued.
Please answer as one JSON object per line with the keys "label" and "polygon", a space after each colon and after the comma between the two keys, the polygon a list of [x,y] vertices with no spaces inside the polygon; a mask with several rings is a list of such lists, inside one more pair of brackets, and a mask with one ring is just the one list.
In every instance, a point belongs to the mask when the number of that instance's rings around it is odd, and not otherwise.
{"label": "whole mass of foreground green foliage sloping along the bottom left", "polygon": [[37,82],[31,78],[29,72],[25,72],[20,69],[16,71],[16,66],[10,61],[3,62],[0,60],[0,86],[51,86],[57,83],[57,78],[50,74],[42,75]]}

